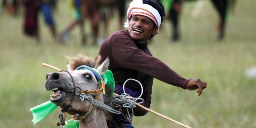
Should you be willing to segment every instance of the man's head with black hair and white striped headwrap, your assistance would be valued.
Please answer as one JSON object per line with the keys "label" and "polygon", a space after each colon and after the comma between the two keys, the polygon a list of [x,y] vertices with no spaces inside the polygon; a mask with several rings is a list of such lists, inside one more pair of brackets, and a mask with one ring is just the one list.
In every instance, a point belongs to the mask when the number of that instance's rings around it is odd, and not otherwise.
{"label": "man's head with black hair and white striped headwrap", "polygon": [[127,10],[127,22],[130,36],[134,40],[150,40],[157,34],[163,18],[164,6],[156,0],[133,0]]}

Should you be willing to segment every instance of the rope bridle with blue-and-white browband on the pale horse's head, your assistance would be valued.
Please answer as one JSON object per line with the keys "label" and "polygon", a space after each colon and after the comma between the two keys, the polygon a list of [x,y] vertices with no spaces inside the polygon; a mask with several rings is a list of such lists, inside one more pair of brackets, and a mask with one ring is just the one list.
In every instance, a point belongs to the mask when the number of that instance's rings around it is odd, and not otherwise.
{"label": "rope bridle with blue-and-white browband on the pale horse's head", "polygon": [[[69,105],[67,105],[66,107],[64,107],[64,108],[61,110],[62,112],[64,112],[64,119],[63,119],[63,115],[62,115],[62,114],[59,114],[60,122],[56,122],[57,125],[58,125],[58,124],[61,124],[61,125],[64,125],[64,124],[65,124],[65,123],[64,123],[64,121],[65,121],[65,115],[66,115],[65,112],[68,110],[69,107],[72,107],[72,106],[71,106],[71,103],[73,102],[73,100],[75,100],[75,101],[81,101],[81,99],[76,99],[76,98],[75,98],[76,95],[80,95],[80,94],[82,94],[82,93],[84,93],[84,94],[91,94],[91,93],[92,93],[92,94],[97,94],[97,95],[94,97],[94,100],[98,100],[98,98],[99,98],[100,95],[101,95],[101,91],[102,91],[103,95],[105,95],[105,93],[106,93],[106,92],[105,92],[105,82],[103,81],[103,78],[101,77],[101,75],[100,75],[99,73],[97,73],[97,70],[96,70],[96,69],[93,69],[93,68],[91,68],[91,67],[89,67],[89,66],[86,66],[86,65],[82,65],[82,66],[79,66],[78,68],[76,68],[75,70],[85,70],[85,69],[91,71],[91,72],[94,74],[94,76],[96,77],[96,79],[97,79],[97,81],[98,81],[98,86],[97,86],[97,89],[96,89],[96,90],[82,90],[80,87],[78,87],[78,86],[75,85],[75,82],[74,82],[74,79],[73,79],[73,76],[71,75],[71,73],[69,73],[68,71],[65,71],[65,70],[60,70],[60,71],[59,71],[59,72],[66,72],[66,73],[68,73],[68,74],[70,75],[74,87],[73,87],[72,90],[63,90],[63,91],[66,91],[66,92],[72,92],[72,93],[73,93],[73,94],[72,94],[73,99],[72,99],[72,101],[70,102]],[[101,85],[100,88],[99,88],[99,85]],[[80,90],[79,93],[75,93],[76,88]],[[98,89],[98,88],[99,88],[99,89]],[[93,107],[94,107],[94,105],[91,104],[90,110],[86,113],[85,116],[81,116],[81,115],[77,115],[77,114],[76,114],[76,115],[72,115],[72,118],[73,118],[74,120],[82,120],[82,119],[84,119],[84,118],[87,116],[87,114],[90,114],[90,113],[91,113]]]}

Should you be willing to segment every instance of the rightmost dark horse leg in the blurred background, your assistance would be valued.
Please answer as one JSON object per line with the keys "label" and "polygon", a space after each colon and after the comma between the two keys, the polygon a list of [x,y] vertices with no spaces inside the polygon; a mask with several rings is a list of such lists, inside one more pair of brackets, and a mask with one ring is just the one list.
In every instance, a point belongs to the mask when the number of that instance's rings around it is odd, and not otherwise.
{"label": "rightmost dark horse leg in the blurred background", "polygon": [[218,40],[222,40],[225,37],[228,0],[211,0],[211,1],[219,13],[220,20],[219,20]]}

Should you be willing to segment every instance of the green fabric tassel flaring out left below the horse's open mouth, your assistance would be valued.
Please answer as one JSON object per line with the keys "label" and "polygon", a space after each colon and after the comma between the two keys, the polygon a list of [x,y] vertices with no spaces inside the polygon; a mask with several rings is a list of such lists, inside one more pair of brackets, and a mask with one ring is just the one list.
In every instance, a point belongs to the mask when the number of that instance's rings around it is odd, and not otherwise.
{"label": "green fabric tassel flaring out left below the horse's open mouth", "polygon": [[47,101],[45,103],[37,105],[36,107],[31,108],[30,111],[32,111],[32,115],[33,115],[32,122],[36,124],[39,121],[45,119],[56,108],[57,106],[51,101]]}

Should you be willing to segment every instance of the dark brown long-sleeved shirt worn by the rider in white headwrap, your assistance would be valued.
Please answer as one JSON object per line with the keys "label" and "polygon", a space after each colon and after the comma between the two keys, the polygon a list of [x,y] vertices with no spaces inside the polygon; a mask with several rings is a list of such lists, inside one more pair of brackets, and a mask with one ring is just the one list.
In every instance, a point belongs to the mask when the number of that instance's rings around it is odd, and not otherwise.
{"label": "dark brown long-sleeved shirt worn by the rider in white headwrap", "polygon": [[[190,81],[153,57],[147,45],[133,41],[128,30],[114,32],[108,37],[101,45],[99,55],[102,56],[102,61],[107,57],[110,58],[109,69],[113,72],[116,84],[123,85],[129,78],[141,82],[143,86],[141,98],[144,99],[141,105],[147,108],[151,103],[153,78],[183,89],[186,89]],[[132,90],[141,90],[140,85],[134,81],[128,81],[125,86]],[[144,116],[146,113],[146,110],[138,107],[134,110],[135,116]]]}

